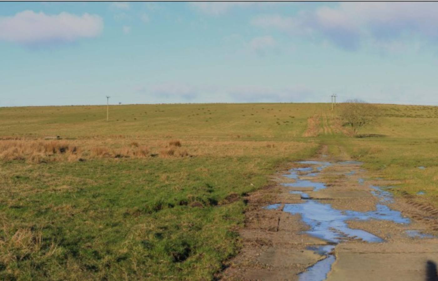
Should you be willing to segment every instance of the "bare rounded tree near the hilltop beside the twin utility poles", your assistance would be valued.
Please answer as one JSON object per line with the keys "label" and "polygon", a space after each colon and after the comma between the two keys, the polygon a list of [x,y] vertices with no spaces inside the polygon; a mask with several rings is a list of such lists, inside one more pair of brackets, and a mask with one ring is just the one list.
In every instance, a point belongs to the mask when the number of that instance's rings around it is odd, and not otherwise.
{"label": "bare rounded tree near the hilltop beside the twin utility poles", "polygon": [[339,117],[343,121],[343,126],[351,127],[353,135],[357,135],[364,127],[377,123],[380,110],[374,104],[361,100],[348,100],[339,105]]}

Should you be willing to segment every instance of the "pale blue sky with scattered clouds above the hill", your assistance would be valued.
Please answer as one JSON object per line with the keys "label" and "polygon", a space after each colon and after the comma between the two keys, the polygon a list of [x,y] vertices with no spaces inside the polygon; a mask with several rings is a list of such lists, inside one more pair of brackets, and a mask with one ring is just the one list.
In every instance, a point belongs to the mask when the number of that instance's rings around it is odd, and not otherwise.
{"label": "pale blue sky with scattered clouds above the hill", "polygon": [[0,2],[0,107],[438,104],[437,2]]}

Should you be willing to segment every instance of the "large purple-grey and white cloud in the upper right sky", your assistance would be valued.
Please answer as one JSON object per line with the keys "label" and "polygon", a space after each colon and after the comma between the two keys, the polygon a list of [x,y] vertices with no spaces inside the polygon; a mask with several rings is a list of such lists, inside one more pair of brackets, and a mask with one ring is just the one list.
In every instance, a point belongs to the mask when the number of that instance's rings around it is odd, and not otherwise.
{"label": "large purple-grey and white cloud in the upper right sky", "polygon": [[319,7],[294,16],[259,16],[251,24],[294,34],[321,35],[343,49],[354,50],[364,41],[436,41],[436,14],[438,3],[433,2],[341,2],[336,7]]}

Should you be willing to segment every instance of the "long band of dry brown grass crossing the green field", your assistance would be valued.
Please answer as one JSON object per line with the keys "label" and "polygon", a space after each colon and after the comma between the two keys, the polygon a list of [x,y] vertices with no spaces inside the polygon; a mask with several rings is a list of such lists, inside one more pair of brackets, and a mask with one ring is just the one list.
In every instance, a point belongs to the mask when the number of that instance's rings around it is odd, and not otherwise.
{"label": "long band of dry brown grass crossing the green field", "polygon": [[[182,143],[181,140],[177,141]],[[84,161],[91,159],[144,158],[159,156],[272,156],[303,149],[307,144],[291,141],[194,140],[184,139],[184,146],[170,145],[163,139],[122,138],[81,140],[0,140],[0,161],[21,160],[28,163]]]}

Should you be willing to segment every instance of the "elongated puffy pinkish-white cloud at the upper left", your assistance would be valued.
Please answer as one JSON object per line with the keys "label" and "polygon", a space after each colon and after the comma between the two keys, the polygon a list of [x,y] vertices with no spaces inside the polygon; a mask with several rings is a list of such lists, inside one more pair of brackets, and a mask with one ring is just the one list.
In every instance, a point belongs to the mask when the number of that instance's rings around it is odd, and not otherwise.
{"label": "elongated puffy pinkish-white cloud at the upper left", "polygon": [[0,17],[0,40],[29,46],[93,38],[102,29],[102,17],[86,13],[82,16],[66,12],[46,15],[25,10],[11,17]]}

